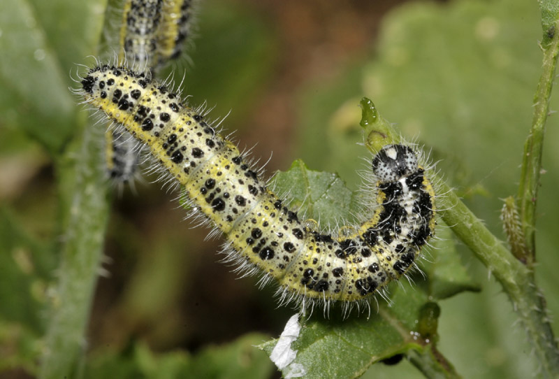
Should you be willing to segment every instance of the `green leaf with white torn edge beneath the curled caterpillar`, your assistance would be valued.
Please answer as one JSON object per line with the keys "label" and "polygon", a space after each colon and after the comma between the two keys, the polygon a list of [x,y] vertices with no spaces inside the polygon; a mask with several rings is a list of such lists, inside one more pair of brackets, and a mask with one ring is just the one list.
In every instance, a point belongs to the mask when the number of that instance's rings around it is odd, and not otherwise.
{"label": "green leaf with white torn edge beneath the curled caterpillar", "polygon": [[[343,320],[337,309],[330,319],[313,315],[303,322],[300,335],[291,343],[296,358],[286,366],[284,376],[296,372],[305,378],[357,378],[372,364],[399,354],[427,355],[429,370],[455,376],[448,362],[435,357],[438,306],[409,283],[391,291],[393,306],[381,301],[378,313],[352,315]],[[259,346],[268,355],[277,340]],[[424,362],[414,362],[425,369]]]}

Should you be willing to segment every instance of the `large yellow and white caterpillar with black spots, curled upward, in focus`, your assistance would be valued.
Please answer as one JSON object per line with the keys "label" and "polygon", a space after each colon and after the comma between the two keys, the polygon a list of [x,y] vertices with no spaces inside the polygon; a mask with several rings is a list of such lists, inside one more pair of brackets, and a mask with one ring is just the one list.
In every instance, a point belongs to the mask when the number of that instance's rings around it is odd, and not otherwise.
{"label": "large yellow and white caterpillar with black spots, curled upward, in focus", "polygon": [[321,234],[266,188],[238,148],[165,85],[97,66],[78,92],[150,150],[191,206],[225,234],[229,258],[279,283],[282,300],[354,302],[398,279],[435,228],[433,187],[406,145],[372,159],[377,206],[352,234]]}

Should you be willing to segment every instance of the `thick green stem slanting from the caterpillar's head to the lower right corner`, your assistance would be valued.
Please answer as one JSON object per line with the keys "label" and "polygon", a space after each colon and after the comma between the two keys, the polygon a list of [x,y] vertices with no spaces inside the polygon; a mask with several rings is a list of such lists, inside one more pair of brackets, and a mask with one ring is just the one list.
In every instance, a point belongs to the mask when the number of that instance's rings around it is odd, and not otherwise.
{"label": "thick green stem slanting from the caterpillar's head to the lower right corner", "polygon": [[456,236],[502,285],[520,316],[542,373],[547,378],[559,377],[557,344],[549,323],[545,300],[535,284],[532,271],[491,234],[446,184],[442,183],[438,188],[444,194],[437,202],[437,208],[443,209],[440,212],[442,219],[452,225]]}

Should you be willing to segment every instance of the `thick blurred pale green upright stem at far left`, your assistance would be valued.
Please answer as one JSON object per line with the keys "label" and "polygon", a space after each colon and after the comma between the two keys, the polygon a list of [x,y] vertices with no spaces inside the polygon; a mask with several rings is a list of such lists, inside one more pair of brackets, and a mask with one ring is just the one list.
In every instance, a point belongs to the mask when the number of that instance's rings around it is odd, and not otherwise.
{"label": "thick blurred pale green upright stem at far left", "polygon": [[99,164],[102,134],[103,128],[86,127],[77,148],[69,149],[57,167],[66,228],[39,373],[42,379],[77,376],[86,346],[85,330],[108,220],[107,184]]}

